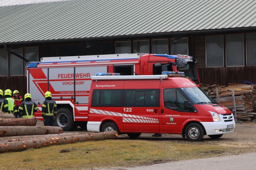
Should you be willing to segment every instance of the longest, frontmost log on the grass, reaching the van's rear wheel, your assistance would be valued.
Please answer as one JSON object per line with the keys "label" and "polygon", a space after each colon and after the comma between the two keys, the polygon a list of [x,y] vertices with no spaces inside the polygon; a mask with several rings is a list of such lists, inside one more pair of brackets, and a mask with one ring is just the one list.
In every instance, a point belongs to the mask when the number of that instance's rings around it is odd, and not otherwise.
{"label": "longest, frontmost log on the grass, reaching the van's rear wheel", "polygon": [[41,148],[44,146],[69,144],[75,142],[85,142],[87,140],[106,140],[117,139],[117,131],[108,131],[100,133],[90,133],[84,135],[69,135],[63,137],[55,137],[50,139],[24,140],[18,142],[0,143],[0,153],[17,152],[27,150],[29,148]]}

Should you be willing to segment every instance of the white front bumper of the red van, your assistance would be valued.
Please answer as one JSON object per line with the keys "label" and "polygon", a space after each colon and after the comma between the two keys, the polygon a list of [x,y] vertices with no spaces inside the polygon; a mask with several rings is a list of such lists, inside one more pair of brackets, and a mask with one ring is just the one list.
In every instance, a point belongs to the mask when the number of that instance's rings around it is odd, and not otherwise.
{"label": "white front bumper of the red van", "polygon": [[234,131],[235,122],[200,122],[205,128],[205,135],[219,135]]}

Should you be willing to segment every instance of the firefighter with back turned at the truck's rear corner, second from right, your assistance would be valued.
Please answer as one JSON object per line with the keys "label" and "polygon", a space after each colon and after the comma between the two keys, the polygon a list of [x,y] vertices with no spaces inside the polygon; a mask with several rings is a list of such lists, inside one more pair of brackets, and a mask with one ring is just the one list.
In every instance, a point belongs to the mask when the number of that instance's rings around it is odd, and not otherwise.
{"label": "firefighter with back turned at the truck's rear corner, second from right", "polygon": [[38,111],[38,107],[35,102],[31,101],[31,94],[27,93],[24,96],[24,102],[21,103],[19,107],[19,117],[20,118],[28,118],[34,117],[34,113]]}

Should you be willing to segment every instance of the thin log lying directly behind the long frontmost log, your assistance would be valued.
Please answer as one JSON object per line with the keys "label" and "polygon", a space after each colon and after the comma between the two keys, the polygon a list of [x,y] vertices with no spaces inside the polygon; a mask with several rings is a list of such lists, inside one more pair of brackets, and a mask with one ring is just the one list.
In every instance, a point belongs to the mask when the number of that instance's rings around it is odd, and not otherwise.
{"label": "thin log lying directly behind the long frontmost log", "polygon": [[[88,132],[86,132],[88,133]],[[46,138],[55,138],[62,136],[74,136],[74,135],[84,135],[85,132],[77,132],[77,133],[59,133],[59,134],[48,134],[48,135],[26,135],[26,136],[9,136],[9,137],[0,137],[0,143],[6,142],[17,142],[23,140],[35,140],[35,139],[46,139]]]}

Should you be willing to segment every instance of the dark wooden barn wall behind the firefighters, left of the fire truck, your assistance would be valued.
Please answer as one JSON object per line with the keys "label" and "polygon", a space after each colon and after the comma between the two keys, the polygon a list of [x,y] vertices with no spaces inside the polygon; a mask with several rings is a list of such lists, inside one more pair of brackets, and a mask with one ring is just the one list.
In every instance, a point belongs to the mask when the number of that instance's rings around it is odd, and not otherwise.
{"label": "dark wooden barn wall behind the firefighters, left of the fire truck", "polygon": [[3,92],[10,89],[12,92],[19,91],[21,96],[26,94],[26,76],[0,76],[0,82]]}

